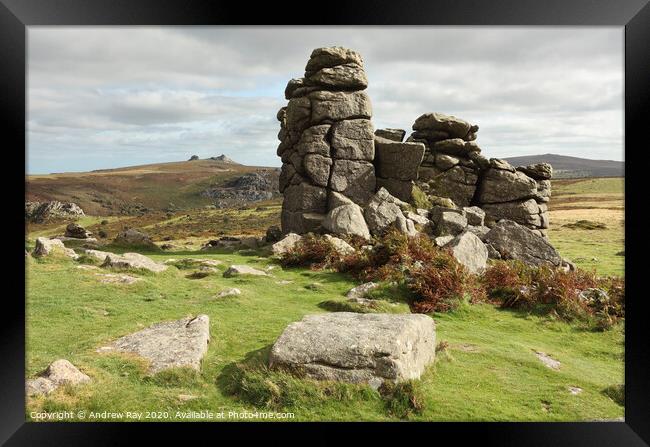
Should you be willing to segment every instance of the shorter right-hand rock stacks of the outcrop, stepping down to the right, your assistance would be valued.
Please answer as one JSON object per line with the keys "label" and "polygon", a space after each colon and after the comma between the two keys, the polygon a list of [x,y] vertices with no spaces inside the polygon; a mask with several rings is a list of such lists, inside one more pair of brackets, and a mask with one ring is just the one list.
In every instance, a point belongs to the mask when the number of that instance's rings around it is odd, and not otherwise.
{"label": "shorter right-hand rock stacks of the outcrop, stepping down to the right", "polygon": [[425,154],[419,186],[436,204],[451,199],[456,206],[479,206],[486,224],[508,219],[546,236],[553,168],[547,163],[514,168],[481,155],[478,126],[442,113],[415,120],[407,141],[421,142]]}

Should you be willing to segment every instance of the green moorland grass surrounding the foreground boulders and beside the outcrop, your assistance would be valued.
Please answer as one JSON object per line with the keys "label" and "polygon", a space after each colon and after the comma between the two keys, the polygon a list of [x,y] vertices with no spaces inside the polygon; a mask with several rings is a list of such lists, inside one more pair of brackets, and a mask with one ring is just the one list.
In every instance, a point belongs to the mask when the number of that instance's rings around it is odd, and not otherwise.
{"label": "green moorland grass surrounding the foreground boulders and beside the outcrop", "polygon": [[[584,182],[556,183],[551,240],[581,267],[603,275],[622,274],[623,257],[615,254],[623,250],[622,209],[615,208],[617,203],[622,206],[622,189],[610,179],[591,186]],[[610,199],[610,208],[605,207]],[[590,208],[591,203],[601,207]],[[600,214],[603,210],[620,214],[605,218]],[[172,266],[160,274],[131,272],[141,278],[134,284],[104,284],[97,275],[102,270],[79,268],[78,262],[68,259],[29,258],[28,377],[53,360],[66,358],[93,381],[30,398],[26,418],[34,420],[34,411],[85,410],[124,412],[111,420],[134,420],[126,416],[127,411],[167,412],[162,419],[185,420],[177,412],[223,410],[227,417],[228,411],[256,409],[293,413],[292,420],[327,421],[583,421],[623,416],[622,402],[607,391],[623,383],[623,323],[598,332],[578,322],[491,304],[465,303],[454,311],[432,314],[441,350],[414,385],[416,412],[400,411],[398,398],[387,398],[366,386],[316,383],[264,371],[259,365],[288,323],[327,312],[332,302],[344,303],[345,292],[357,284],[332,271],[283,269],[262,251],[198,251],[200,243],[218,235],[217,231],[262,234],[269,222],[277,222],[277,215],[277,205],[268,204],[263,210],[161,214],[160,220],[87,217],[81,222],[94,231],[106,227],[112,233],[130,219],[129,225],[145,228],[155,240],[172,237],[171,251],[145,253],[158,261],[222,261],[218,273],[202,279],[190,279],[192,270]],[[103,220],[108,223],[102,224]],[[564,226],[579,220],[603,223],[606,228],[588,230],[590,225],[584,223]],[[194,222],[196,229],[192,229]],[[206,222],[211,222],[209,230],[200,230]],[[228,225],[227,231],[220,225]],[[62,228],[32,226],[27,243],[33,245],[38,235],[60,234]],[[224,278],[220,272],[231,264],[268,269],[271,276]],[[216,297],[230,287],[241,289],[242,294]],[[400,301],[395,293],[391,298]],[[393,309],[408,311],[404,304]],[[152,323],[201,313],[210,317],[212,339],[200,373],[179,369],[148,376],[146,365],[138,359],[95,352],[108,341]],[[559,360],[560,369],[544,366],[535,351]],[[571,387],[582,391],[572,394]]]}

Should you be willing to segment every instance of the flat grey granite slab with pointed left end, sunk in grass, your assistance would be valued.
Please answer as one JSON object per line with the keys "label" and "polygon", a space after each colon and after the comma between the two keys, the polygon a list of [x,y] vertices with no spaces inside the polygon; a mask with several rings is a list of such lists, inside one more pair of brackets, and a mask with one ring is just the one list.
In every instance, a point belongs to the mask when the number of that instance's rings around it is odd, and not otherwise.
{"label": "flat grey granite slab with pointed left end, sunk in grass", "polygon": [[208,351],[210,318],[199,315],[176,321],[156,323],[147,329],[119,338],[97,352],[125,352],[139,355],[151,362],[149,372],[168,368],[201,368],[201,359]]}

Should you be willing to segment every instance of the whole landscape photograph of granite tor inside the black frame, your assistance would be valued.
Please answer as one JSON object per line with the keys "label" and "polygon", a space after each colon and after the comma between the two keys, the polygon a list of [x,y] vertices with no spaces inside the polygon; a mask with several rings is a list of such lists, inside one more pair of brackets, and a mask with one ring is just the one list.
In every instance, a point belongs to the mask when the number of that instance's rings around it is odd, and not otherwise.
{"label": "whole landscape photograph of granite tor inside the black frame", "polygon": [[25,420],[624,421],[624,38],[28,27]]}

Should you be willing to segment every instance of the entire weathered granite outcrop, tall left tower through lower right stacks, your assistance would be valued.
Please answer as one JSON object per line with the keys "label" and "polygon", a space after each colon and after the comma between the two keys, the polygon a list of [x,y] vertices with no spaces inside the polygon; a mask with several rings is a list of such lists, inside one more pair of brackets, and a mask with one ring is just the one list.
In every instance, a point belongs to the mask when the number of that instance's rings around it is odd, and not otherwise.
{"label": "entire weathered granite outcrop, tall left tower through lower right stacks", "polygon": [[[476,238],[491,258],[503,256],[482,242],[502,220],[546,237],[549,164],[516,168],[488,159],[476,142],[478,125],[443,113],[418,117],[406,141],[401,129],[373,133],[361,56],[319,48],[307,67],[304,78],[287,85],[289,104],[277,115],[285,234],[370,239],[396,228],[411,236],[431,234],[437,245],[446,245],[468,233],[461,246]],[[414,205],[427,199],[433,208],[415,213]]]}

